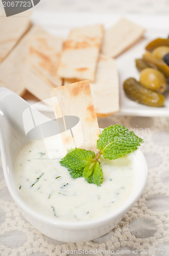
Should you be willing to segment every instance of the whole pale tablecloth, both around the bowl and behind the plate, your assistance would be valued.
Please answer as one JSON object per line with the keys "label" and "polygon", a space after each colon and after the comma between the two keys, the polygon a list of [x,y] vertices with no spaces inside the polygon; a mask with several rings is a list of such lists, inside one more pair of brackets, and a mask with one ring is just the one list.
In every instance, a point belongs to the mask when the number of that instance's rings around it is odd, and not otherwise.
{"label": "whole pale tablecloth, both around the bowl and behind the plate", "polygon": [[[0,6],[2,3],[0,2]],[[38,10],[111,12],[112,14],[169,13],[168,0],[41,0]],[[168,29],[169,33],[169,29]],[[168,113],[169,116],[169,113]],[[100,248],[113,255],[169,255],[169,117],[118,117],[99,119],[99,126],[124,124],[144,138],[142,151],[148,162],[148,183],[139,201],[105,236],[87,243],[62,243],[45,237],[29,224],[13,202],[0,164],[0,254],[63,255],[62,249]],[[149,252],[147,253],[147,250]],[[117,251],[119,250],[119,251]],[[124,252],[125,250],[126,253]],[[85,255],[87,254],[85,252]],[[117,251],[117,253],[116,253]],[[97,255],[103,255],[97,253]]]}

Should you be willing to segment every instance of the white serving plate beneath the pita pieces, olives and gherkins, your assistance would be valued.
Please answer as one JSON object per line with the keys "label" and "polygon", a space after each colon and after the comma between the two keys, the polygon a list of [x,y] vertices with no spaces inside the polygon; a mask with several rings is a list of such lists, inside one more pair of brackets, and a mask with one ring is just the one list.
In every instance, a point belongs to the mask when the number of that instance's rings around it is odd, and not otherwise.
{"label": "white serving plate beneath the pita pieces, olives and gherkins", "polygon": [[[74,27],[80,27],[92,24],[103,24],[108,28],[115,24],[120,15],[109,13],[57,13],[57,12],[39,12],[34,11],[32,20],[35,24],[41,25],[48,32],[66,38],[69,31]],[[169,34],[167,16],[144,16],[144,15],[125,15],[138,25],[145,27],[144,38],[134,47],[117,58],[117,66],[120,75],[120,112],[117,115],[133,116],[169,116],[169,90],[165,92],[165,106],[162,108],[153,108],[138,104],[125,96],[123,91],[123,82],[129,77],[139,78],[139,73],[135,68],[135,58],[141,58],[145,46],[154,38],[167,37]],[[34,101],[31,101],[34,103]],[[41,105],[42,110],[44,106]]]}

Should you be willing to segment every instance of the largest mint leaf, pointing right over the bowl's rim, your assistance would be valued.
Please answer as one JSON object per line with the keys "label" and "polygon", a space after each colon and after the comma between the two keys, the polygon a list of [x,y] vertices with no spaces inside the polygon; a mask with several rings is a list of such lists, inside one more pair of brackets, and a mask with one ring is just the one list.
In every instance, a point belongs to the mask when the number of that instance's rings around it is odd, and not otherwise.
{"label": "largest mint leaf, pointing right over the bowl's rim", "polygon": [[111,160],[135,151],[143,142],[143,139],[137,137],[134,132],[129,132],[125,126],[116,124],[105,128],[99,135],[97,148],[104,158]]}

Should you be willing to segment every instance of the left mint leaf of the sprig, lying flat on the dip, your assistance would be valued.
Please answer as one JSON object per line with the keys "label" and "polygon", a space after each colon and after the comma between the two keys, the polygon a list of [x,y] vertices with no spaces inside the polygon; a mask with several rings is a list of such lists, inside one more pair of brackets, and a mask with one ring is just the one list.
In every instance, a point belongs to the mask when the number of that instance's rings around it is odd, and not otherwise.
{"label": "left mint leaf of the sprig, lying flat on the dip", "polygon": [[83,169],[91,164],[95,157],[95,153],[90,150],[75,148],[67,153],[60,164],[68,168],[72,178],[76,179],[83,176]]}

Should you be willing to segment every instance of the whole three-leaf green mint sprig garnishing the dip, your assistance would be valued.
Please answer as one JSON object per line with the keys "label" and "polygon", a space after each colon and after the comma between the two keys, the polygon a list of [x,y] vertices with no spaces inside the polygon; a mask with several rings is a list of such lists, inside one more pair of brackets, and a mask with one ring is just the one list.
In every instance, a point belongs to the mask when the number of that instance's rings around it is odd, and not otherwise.
{"label": "whole three-leaf green mint sprig garnishing the dip", "polygon": [[100,186],[103,172],[99,158],[117,159],[137,149],[143,139],[130,132],[125,126],[111,125],[102,131],[97,141],[97,155],[93,151],[75,148],[60,161],[68,168],[72,178],[84,177],[89,183]]}

